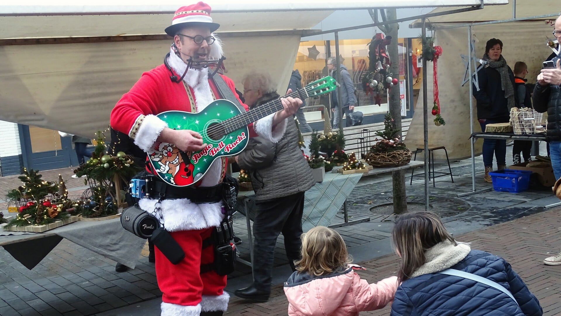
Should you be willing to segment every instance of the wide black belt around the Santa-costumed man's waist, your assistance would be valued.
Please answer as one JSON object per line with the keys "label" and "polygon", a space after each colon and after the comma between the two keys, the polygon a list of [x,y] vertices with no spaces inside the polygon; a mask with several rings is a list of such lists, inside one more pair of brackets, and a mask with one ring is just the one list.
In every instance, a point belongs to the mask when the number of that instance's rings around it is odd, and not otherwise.
{"label": "wide black belt around the Santa-costumed man's waist", "polygon": [[218,203],[223,199],[223,186],[219,183],[208,187],[177,187],[163,181],[154,181],[152,189],[154,198],[162,199],[190,199],[195,204]]}

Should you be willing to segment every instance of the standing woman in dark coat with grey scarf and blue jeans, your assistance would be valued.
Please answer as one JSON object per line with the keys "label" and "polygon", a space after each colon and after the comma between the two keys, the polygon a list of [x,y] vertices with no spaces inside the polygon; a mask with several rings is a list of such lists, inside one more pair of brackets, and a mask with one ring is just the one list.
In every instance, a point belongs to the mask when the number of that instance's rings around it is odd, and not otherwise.
{"label": "standing woman in dark coat with grey scarf and blue jeans", "polygon": [[[473,84],[473,97],[477,100],[477,120],[481,124],[481,131],[491,123],[508,123],[511,108],[517,105],[517,95],[514,93],[514,74],[511,67],[501,54],[503,42],[492,38],[485,45],[483,60],[487,63],[477,72],[479,91]],[[506,165],[507,141],[485,139],[483,141],[483,163],[485,165],[486,182],[493,182],[489,172],[493,171],[493,154],[495,154],[498,170]]]}

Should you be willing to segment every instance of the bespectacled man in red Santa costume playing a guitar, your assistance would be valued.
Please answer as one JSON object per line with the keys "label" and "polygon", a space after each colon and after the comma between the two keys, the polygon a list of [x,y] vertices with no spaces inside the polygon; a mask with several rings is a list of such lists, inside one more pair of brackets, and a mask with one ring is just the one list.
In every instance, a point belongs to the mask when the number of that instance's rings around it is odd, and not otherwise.
{"label": "bespectacled man in red Santa costume playing a guitar", "polygon": [[[205,61],[222,56],[216,35],[218,24],[210,17],[210,6],[199,2],[181,7],[165,33],[173,36],[167,65],[145,72],[132,89],[123,95],[111,113],[111,126],[127,133],[145,152],[154,151],[157,143],[174,144],[183,152],[204,148],[201,136],[190,130],[172,130],[157,116],[165,111],[200,112],[220,94],[209,77],[208,68],[190,68],[187,60]],[[185,72],[187,70],[187,72]],[[185,75],[182,82],[178,78]],[[222,76],[222,75],[215,75]],[[235,93],[231,79],[222,76]],[[301,106],[300,99],[283,98],[283,109],[249,126],[250,136],[262,136],[276,143],[284,133],[286,118]],[[247,106],[240,102],[247,111]],[[224,215],[221,196],[213,203],[197,203],[197,196],[220,185],[226,170],[226,159],[217,159],[209,171],[188,187],[173,187],[172,198],[141,199],[140,208],[155,214],[173,239],[185,252],[185,258],[172,264],[156,248],[156,276],[162,290],[162,316],[218,316],[227,309],[229,295],[224,292],[226,276],[203,271],[201,265],[214,262],[213,247],[203,246]],[[196,180],[196,179],[195,179]],[[178,191],[184,190],[184,191]],[[205,191],[206,190],[206,191]],[[185,197],[182,198],[183,193]]]}

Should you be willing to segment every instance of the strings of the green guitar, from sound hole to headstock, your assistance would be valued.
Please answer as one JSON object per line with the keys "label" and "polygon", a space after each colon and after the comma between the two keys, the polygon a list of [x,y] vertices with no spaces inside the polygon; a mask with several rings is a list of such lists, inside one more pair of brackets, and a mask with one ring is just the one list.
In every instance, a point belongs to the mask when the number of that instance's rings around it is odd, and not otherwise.
{"label": "strings of the green guitar, from sound hole to headstock", "polygon": [[[314,88],[313,86],[305,87],[303,89],[296,90],[295,92],[292,92],[291,94],[287,94],[283,98],[286,98],[286,97],[301,97],[301,95],[300,95],[301,91],[304,91],[306,93],[306,95],[309,95],[309,92],[311,90],[315,90],[315,89],[317,89],[317,88]],[[224,121],[218,123],[217,126],[214,126],[211,129],[209,129],[206,132],[206,134],[211,134],[211,133],[219,131],[219,130],[224,130],[226,132],[226,134],[228,134],[229,132],[240,129],[244,125],[247,126],[250,123],[259,120],[260,118],[265,117],[266,116],[265,113],[267,113],[268,111],[270,111],[272,109],[276,109],[278,106],[282,106],[282,101],[280,99],[275,99],[271,102],[263,104],[262,106],[259,106],[257,108],[253,108],[250,111],[246,111],[244,113],[241,113],[240,115],[228,118],[227,120],[224,120]],[[280,109],[278,109],[277,111],[279,111],[279,110]],[[263,116],[261,116],[260,118],[257,118],[260,115],[263,115]],[[242,120],[243,120],[243,122],[240,124],[240,121],[242,121]],[[227,131],[229,129],[232,129],[232,130]]]}

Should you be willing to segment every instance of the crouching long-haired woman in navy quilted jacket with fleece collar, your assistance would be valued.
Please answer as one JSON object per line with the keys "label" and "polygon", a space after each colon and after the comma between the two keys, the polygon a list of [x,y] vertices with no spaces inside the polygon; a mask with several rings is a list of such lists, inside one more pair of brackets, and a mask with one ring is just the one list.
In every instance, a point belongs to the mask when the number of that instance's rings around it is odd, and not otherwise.
{"label": "crouching long-haired woman in navy quilted jacket with fleece collar", "polygon": [[[392,316],[542,314],[536,296],[508,262],[457,242],[434,213],[400,216],[393,228],[393,242],[402,259],[398,272],[402,284],[397,288]],[[441,273],[462,273],[457,271],[468,274]],[[482,277],[479,281],[472,280],[478,276]]]}

